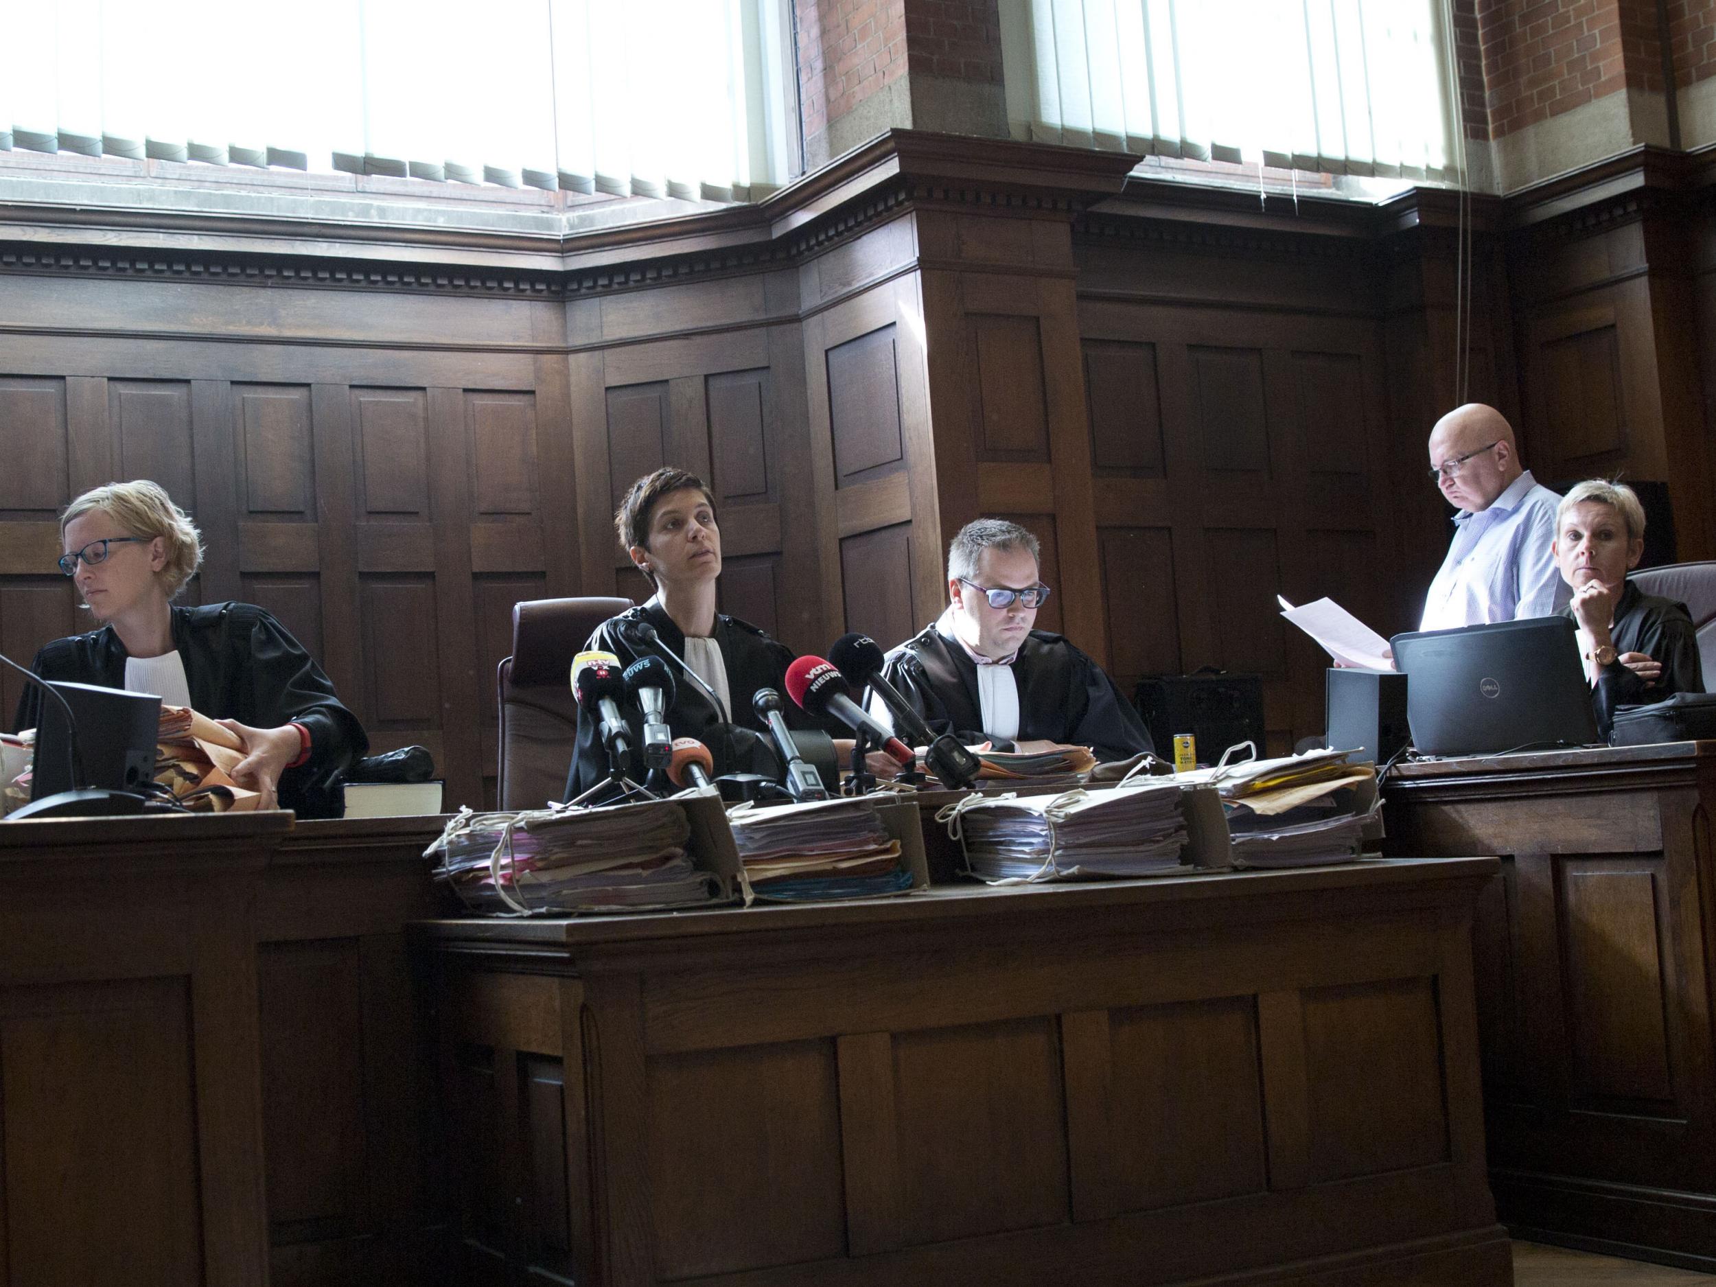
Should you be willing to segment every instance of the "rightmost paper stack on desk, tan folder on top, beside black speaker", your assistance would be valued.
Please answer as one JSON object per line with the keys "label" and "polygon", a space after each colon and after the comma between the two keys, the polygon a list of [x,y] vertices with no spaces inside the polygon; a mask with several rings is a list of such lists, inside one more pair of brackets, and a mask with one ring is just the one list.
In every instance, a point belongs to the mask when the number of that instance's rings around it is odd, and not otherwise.
{"label": "rightmost paper stack on desk, tan folder on top, beside black speaker", "polygon": [[1306,752],[1179,774],[1222,795],[1234,867],[1316,867],[1359,856],[1376,815],[1376,765]]}

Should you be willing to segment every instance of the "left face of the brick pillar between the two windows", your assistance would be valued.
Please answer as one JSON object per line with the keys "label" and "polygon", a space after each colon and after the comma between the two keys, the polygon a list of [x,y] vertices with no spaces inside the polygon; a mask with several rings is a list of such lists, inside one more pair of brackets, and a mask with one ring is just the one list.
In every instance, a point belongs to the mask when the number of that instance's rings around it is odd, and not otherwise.
{"label": "left face of the brick pillar between the two windows", "polygon": [[805,136],[906,74],[906,0],[793,0]]}

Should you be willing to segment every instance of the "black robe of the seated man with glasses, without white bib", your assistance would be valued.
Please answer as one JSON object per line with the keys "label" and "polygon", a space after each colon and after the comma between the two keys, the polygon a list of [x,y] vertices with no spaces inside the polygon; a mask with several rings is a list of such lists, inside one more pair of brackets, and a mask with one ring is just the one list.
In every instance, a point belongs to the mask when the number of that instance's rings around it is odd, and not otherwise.
{"label": "black robe of the seated man with glasses, without white bib", "polygon": [[[1012,743],[985,733],[976,662],[958,640],[932,625],[887,654],[884,678],[916,707],[937,736],[952,733],[966,745]],[[1090,746],[1098,760],[1127,760],[1155,750],[1145,721],[1103,669],[1060,635],[1033,630],[1012,662],[1019,688],[1019,741]]]}

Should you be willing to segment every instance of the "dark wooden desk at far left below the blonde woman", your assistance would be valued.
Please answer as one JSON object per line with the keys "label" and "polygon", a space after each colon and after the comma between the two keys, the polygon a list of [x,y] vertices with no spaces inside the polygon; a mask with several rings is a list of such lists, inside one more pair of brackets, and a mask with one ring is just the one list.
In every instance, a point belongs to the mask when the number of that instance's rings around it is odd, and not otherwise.
{"label": "dark wooden desk at far left below the blonde woman", "polygon": [[446,1282],[439,822],[292,822],[0,824],[0,1284]]}

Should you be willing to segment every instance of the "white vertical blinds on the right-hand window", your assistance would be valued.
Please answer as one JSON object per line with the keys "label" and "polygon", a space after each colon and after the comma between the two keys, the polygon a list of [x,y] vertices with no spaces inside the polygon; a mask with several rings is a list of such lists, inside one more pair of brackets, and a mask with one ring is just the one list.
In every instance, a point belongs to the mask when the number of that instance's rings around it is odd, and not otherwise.
{"label": "white vertical blinds on the right-hand window", "polygon": [[1452,178],[1443,0],[1000,0],[1038,142]]}

